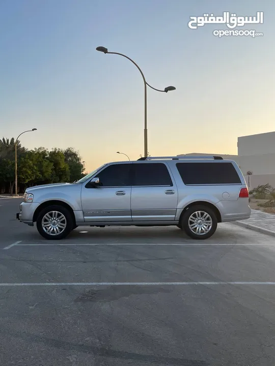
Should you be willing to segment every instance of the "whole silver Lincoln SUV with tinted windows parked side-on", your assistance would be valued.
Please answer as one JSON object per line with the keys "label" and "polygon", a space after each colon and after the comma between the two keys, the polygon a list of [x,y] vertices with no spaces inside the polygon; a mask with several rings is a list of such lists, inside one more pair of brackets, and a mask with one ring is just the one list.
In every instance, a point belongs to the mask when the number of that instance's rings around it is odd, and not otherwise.
{"label": "whole silver Lincoln SUV with tinted windows parked side-on", "polygon": [[17,219],[46,239],[77,226],[176,225],[194,239],[217,223],[249,219],[249,192],[234,161],[221,157],[148,157],[102,165],[73,184],[28,188]]}

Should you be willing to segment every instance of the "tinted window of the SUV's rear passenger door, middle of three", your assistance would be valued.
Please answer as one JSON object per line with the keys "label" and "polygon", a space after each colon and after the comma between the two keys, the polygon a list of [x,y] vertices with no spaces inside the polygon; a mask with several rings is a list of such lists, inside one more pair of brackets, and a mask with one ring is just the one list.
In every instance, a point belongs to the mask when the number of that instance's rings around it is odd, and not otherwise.
{"label": "tinted window of the SUV's rear passenger door, middle of three", "polygon": [[133,186],[172,186],[172,180],[164,164],[133,164]]}

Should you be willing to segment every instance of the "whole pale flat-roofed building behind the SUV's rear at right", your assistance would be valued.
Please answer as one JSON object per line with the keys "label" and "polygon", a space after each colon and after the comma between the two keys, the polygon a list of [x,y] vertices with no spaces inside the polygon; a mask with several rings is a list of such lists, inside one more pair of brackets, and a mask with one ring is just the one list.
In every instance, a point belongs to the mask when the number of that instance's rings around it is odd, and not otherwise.
{"label": "whole pale flat-roofed building behind the SUV's rear at right", "polygon": [[249,188],[270,184],[275,188],[275,132],[238,137],[238,155],[180,154],[187,156],[221,156],[234,160],[240,167]]}

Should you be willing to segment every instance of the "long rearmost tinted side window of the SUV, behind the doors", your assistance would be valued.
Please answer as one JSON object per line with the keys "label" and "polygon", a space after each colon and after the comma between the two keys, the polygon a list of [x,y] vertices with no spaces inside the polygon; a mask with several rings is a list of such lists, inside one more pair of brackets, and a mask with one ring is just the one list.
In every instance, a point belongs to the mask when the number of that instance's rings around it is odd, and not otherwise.
{"label": "long rearmost tinted side window of the SUV, behind the doors", "polygon": [[177,163],[185,185],[241,184],[232,163]]}

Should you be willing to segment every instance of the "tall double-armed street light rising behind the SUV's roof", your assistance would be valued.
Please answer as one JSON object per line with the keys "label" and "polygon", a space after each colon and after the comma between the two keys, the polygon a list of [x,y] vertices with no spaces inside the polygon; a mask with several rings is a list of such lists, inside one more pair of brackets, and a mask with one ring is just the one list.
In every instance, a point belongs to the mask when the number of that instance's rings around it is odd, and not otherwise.
{"label": "tall double-armed street light rising behind the SUV's roof", "polygon": [[176,88],[175,88],[175,86],[167,86],[166,88],[164,88],[164,90],[156,89],[153,86],[151,86],[151,85],[148,84],[148,82],[146,81],[145,76],[144,76],[141,68],[130,57],[126,56],[123,53],[119,53],[119,52],[109,52],[108,49],[106,47],[103,47],[103,46],[97,47],[96,50],[99,51],[99,52],[103,52],[103,53],[118,54],[120,56],[123,56],[123,57],[127,58],[128,60],[131,61],[131,63],[133,63],[136,66],[137,69],[139,69],[139,71],[140,71],[140,73],[142,75],[143,82],[144,82],[144,156],[147,157],[148,156],[148,136],[147,136],[147,85],[151,89],[156,90],[157,92],[164,92],[164,93],[168,93],[171,90],[176,90]]}

